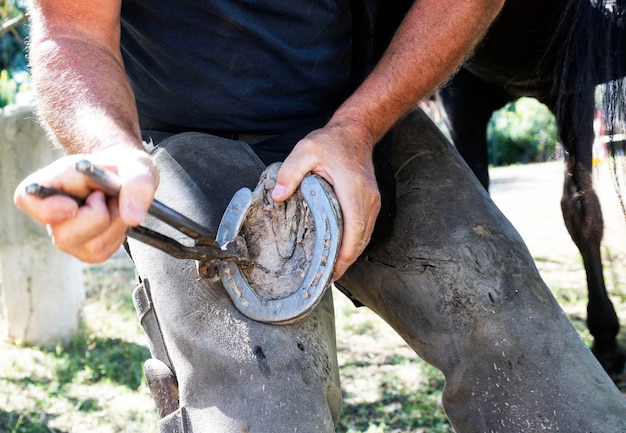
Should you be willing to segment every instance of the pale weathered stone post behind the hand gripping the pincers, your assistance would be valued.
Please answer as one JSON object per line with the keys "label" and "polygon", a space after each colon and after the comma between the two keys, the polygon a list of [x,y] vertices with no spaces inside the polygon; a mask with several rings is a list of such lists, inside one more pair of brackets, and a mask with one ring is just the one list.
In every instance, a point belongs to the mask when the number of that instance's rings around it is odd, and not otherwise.
{"label": "pale weathered stone post behind the hand gripping the pincers", "polygon": [[13,205],[18,183],[62,153],[54,150],[32,107],[0,111],[0,293],[3,336],[54,347],[77,330],[84,303],[82,264],[58,251],[45,227]]}

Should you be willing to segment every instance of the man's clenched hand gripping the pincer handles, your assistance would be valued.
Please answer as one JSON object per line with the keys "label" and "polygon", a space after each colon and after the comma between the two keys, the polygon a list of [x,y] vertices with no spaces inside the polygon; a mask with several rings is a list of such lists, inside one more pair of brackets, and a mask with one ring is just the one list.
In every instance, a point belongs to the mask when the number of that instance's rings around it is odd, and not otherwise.
{"label": "man's clenched hand gripping the pincer handles", "polygon": [[[81,159],[89,159],[119,175],[119,198],[105,197],[93,181],[75,170],[75,163]],[[128,226],[143,220],[158,182],[158,172],[147,153],[129,147],[109,147],[88,155],[63,157],[33,173],[17,187],[14,201],[29,217],[48,227],[58,249],[82,261],[99,263],[117,251]],[[78,207],[74,200],[62,195],[45,199],[31,196],[25,191],[31,183],[85,198],[86,204]]]}

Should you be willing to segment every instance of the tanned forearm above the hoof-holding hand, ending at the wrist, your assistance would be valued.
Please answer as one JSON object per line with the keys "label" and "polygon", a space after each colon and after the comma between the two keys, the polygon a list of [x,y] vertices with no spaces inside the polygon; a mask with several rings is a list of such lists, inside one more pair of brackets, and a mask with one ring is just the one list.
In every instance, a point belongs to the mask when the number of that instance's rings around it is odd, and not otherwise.
{"label": "tanned forearm above the hoof-holding hand, ending at the wrist", "polygon": [[416,0],[381,61],[331,122],[376,143],[417,101],[453,74],[503,0]]}

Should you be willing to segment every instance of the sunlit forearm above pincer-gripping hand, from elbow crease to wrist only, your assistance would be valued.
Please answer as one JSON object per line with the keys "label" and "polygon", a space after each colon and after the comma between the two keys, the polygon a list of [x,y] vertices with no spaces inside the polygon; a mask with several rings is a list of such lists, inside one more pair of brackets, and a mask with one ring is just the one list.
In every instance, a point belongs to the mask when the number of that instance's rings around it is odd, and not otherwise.
{"label": "sunlit forearm above pincer-gripping hand, from elbow crease to wrist only", "polygon": [[139,147],[135,99],[119,45],[109,48],[73,28],[52,32],[51,20],[37,12],[31,71],[39,115],[54,138],[70,153],[112,145]]}

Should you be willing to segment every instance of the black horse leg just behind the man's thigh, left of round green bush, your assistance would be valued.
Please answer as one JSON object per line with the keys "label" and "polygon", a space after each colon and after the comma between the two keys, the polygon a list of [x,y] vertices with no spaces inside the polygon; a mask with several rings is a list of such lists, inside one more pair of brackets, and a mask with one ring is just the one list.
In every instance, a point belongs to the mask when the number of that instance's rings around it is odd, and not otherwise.
{"label": "black horse leg just behind the man's thigh, left of round green bush", "polygon": [[501,88],[462,68],[439,93],[454,146],[480,183],[489,189],[487,124],[509,101]]}

